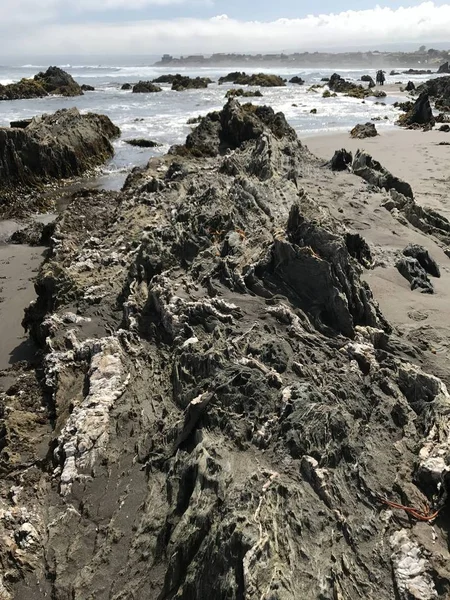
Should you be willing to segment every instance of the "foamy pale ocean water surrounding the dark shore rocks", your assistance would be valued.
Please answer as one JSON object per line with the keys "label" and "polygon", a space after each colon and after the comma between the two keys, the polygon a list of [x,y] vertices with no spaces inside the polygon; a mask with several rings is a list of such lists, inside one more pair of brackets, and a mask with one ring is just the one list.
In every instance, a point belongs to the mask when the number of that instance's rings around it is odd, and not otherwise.
{"label": "foamy pale ocean water surrounding the dark shore rocks", "polygon": [[[26,64],[19,66],[0,66],[0,83],[19,81],[23,77],[33,77],[46,70],[48,64]],[[51,113],[60,108],[76,106],[81,112],[96,112],[108,115],[120,127],[122,136],[114,142],[116,154],[102,169],[100,183],[105,187],[116,188],[134,166],[145,164],[151,156],[167,152],[173,144],[184,142],[191,130],[187,120],[199,115],[219,110],[225,103],[225,93],[232,85],[211,84],[208,89],[173,92],[169,85],[162,85],[163,92],[157,94],[133,94],[122,91],[124,83],[136,83],[139,80],[151,80],[162,74],[181,72],[190,76],[210,77],[212,80],[226,75],[230,71],[258,72],[261,69],[242,68],[192,68],[168,70],[146,65],[70,65],[59,64],[80,84],[95,87],[94,92],[86,92],[76,98],[48,97],[34,100],[14,100],[0,102],[0,126],[8,126],[10,121],[32,117],[42,113]],[[406,69],[405,69],[406,70]],[[296,129],[301,140],[321,133],[337,133],[350,130],[354,125],[376,119],[377,128],[383,130],[394,127],[399,112],[392,104],[399,99],[390,93],[383,99],[385,105],[376,99],[365,102],[354,98],[322,98],[322,91],[308,91],[323,77],[338,72],[345,78],[358,81],[365,70],[320,70],[306,69],[295,71],[288,69],[264,69],[266,73],[275,73],[290,79],[299,75],[305,80],[304,86],[288,84],[281,88],[263,88],[262,98],[250,98],[256,104],[268,104],[276,111],[282,111],[289,123]],[[375,72],[369,72],[375,78]],[[429,79],[424,76],[389,76],[386,83],[411,79],[416,83]],[[244,100],[247,101],[247,100]],[[311,114],[312,109],[317,114]],[[385,118],[386,117],[386,118]],[[148,138],[162,144],[159,148],[135,148],[125,143],[129,138]]]}

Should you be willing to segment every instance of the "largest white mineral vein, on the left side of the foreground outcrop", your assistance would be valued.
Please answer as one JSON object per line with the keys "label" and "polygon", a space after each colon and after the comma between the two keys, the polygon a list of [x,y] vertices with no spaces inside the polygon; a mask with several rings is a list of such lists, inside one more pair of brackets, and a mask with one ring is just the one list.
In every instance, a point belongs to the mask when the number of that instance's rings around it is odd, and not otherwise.
{"label": "largest white mineral vein, on the left side of the foreground outcrop", "polygon": [[[88,343],[84,342],[78,350]],[[130,379],[116,338],[90,340],[90,343],[89,392],[74,408],[58,438],[56,453],[64,460],[60,488],[63,496],[71,492],[79,471],[91,468],[106,448],[110,410]]]}

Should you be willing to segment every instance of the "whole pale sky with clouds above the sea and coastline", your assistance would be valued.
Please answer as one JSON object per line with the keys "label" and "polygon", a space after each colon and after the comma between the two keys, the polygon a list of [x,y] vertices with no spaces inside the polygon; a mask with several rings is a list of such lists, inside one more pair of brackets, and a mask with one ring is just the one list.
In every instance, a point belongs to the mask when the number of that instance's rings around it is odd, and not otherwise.
{"label": "whole pale sky with clouds above the sea and coastline", "polygon": [[320,50],[450,42],[450,3],[385,0],[0,0],[8,55]]}

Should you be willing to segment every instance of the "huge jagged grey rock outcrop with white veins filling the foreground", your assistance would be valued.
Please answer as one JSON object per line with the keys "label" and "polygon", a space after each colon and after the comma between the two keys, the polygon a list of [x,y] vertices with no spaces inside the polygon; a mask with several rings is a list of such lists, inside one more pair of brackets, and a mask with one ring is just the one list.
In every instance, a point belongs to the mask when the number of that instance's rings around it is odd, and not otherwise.
{"label": "huge jagged grey rock outcrop with white veins filling the foreground", "polygon": [[0,395],[0,591],[446,597],[446,386],[405,359],[317,187],[337,175],[284,117],[230,101],[193,132],[214,136],[56,222],[39,368]]}

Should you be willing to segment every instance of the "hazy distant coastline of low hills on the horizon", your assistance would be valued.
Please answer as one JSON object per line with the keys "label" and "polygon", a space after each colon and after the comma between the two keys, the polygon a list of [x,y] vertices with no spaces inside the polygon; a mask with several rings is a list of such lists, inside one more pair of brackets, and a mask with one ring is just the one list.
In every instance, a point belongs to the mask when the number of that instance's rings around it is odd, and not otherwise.
{"label": "hazy distant coastline of low hills on the horizon", "polygon": [[295,52],[293,54],[216,53],[174,57],[164,54],[155,67],[414,67],[435,68],[450,59],[450,50],[420,49],[416,52]]}

